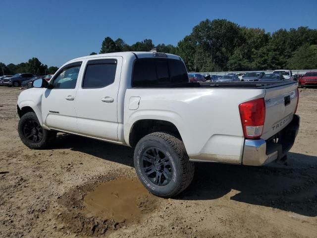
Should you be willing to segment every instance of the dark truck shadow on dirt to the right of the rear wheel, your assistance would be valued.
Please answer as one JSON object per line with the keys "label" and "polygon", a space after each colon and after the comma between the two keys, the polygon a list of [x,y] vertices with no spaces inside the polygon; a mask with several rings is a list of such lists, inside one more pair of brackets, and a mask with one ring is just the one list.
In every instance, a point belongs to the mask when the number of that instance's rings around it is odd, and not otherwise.
{"label": "dark truck shadow on dirt to the right of the rear wheel", "polygon": [[288,153],[287,165],[263,167],[197,163],[192,184],[177,199],[231,200],[317,216],[317,157]]}

